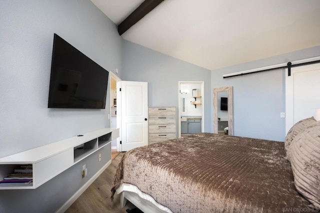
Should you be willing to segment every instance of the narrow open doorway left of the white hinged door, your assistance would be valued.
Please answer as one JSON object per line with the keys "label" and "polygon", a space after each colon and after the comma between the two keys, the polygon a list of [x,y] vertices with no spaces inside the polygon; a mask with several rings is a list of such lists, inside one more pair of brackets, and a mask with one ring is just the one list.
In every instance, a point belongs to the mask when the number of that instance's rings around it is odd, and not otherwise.
{"label": "narrow open doorway left of the white hinged door", "polygon": [[[116,83],[121,79],[116,76],[113,72],[110,72],[110,127],[116,128],[120,125],[120,120],[116,119],[117,107],[116,107]],[[116,156],[118,152],[117,144],[119,143],[119,138],[111,141],[111,156]]]}

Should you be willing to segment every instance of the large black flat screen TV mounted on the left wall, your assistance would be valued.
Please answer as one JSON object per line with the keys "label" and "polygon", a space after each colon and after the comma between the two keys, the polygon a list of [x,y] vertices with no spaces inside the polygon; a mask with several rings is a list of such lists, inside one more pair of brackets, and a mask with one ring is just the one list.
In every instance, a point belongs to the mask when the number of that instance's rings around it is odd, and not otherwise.
{"label": "large black flat screen TV mounted on the left wall", "polygon": [[54,33],[48,108],[105,108],[108,75]]}

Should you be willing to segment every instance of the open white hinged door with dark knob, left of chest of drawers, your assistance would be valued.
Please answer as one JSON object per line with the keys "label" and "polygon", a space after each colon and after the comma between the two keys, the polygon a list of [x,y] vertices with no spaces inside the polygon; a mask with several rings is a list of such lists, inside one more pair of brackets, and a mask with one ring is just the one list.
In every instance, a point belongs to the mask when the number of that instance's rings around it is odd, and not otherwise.
{"label": "open white hinged door with dark knob, left of chest of drawers", "polygon": [[117,116],[121,120],[120,151],[148,144],[147,82],[119,81]]}

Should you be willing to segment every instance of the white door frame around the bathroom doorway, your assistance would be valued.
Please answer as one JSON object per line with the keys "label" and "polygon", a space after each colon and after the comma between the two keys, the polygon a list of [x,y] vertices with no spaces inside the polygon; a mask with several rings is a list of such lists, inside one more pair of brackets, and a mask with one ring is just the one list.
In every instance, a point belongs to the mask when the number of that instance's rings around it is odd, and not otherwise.
{"label": "white door frame around the bathroom doorway", "polygon": [[180,85],[181,83],[200,83],[201,84],[201,132],[204,132],[204,81],[178,81],[178,137],[181,137],[181,98]]}

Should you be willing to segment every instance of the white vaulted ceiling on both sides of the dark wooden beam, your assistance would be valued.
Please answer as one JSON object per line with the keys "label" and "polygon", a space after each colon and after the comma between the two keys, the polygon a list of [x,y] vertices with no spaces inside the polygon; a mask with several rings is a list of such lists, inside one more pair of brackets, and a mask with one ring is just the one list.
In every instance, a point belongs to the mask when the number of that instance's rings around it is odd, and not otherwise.
{"label": "white vaulted ceiling on both sides of the dark wooden beam", "polygon": [[[143,2],[91,1],[116,24]],[[164,0],[122,37],[213,70],[320,45],[320,0]]]}

